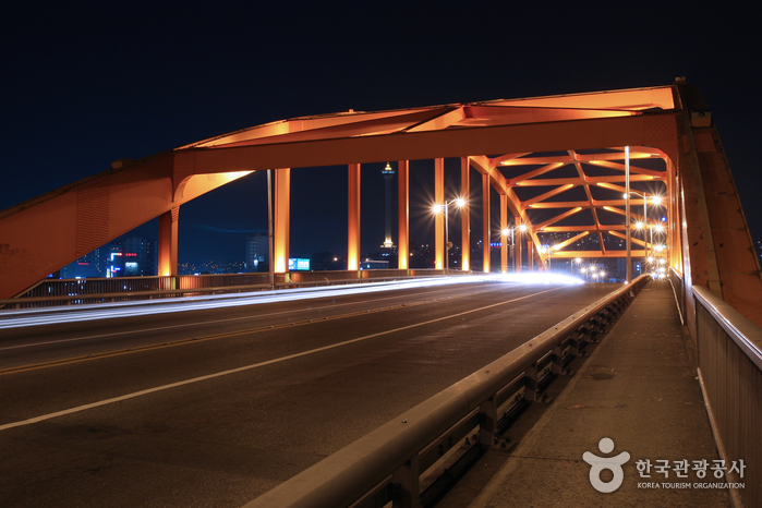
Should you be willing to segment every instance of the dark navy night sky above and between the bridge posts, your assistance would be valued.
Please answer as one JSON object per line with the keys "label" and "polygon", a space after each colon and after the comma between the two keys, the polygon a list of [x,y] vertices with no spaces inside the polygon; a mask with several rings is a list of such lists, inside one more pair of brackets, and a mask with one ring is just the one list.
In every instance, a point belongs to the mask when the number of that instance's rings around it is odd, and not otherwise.
{"label": "dark navy night sky above and between the bridge posts", "polygon": [[[274,120],[686,76],[712,109],[762,237],[762,19],[740,2],[8,3],[0,209],[116,159]],[[364,250],[383,240],[382,166],[363,171]],[[346,178],[343,168],[294,170],[293,254],[346,250]],[[255,173],[184,206],[181,261],[242,257],[246,231],[266,228],[264,182]],[[320,197],[332,186],[340,195]]]}

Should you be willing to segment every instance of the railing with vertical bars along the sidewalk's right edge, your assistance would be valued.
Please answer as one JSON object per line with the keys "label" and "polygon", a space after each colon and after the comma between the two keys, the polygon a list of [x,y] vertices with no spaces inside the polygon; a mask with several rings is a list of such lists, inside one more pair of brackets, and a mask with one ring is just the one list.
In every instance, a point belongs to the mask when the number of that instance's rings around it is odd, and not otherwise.
{"label": "railing with vertical bars along the sidewalk's right edge", "polygon": [[[699,380],[736,507],[762,506],[762,328],[693,286]],[[743,474],[731,472],[742,460]]]}

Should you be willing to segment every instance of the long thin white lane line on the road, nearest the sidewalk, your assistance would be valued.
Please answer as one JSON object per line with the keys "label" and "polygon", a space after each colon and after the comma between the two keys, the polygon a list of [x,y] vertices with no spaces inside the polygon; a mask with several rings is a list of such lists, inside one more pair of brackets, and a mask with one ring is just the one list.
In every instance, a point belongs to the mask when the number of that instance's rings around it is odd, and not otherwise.
{"label": "long thin white lane line on the road, nearest the sidewalk", "polygon": [[170,388],[178,388],[181,386],[191,385],[193,383],[198,383],[198,382],[203,382],[203,380],[207,380],[207,379],[214,379],[216,377],[222,377],[222,376],[227,376],[230,374],[237,374],[239,372],[251,371],[252,368],[264,367],[266,365],[271,365],[274,363],[285,362],[287,360],[293,360],[295,358],[307,356],[310,354],[319,353],[322,351],[328,351],[329,349],[336,349],[336,348],[340,348],[342,346],[348,346],[348,344],[352,344],[355,342],[361,342],[363,340],[372,339],[374,337],[380,337],[384,335],[395,334],[397,331],[409,330],[411,328],[418,328],[419,326],[431,325],[432,323],[437,323],[437,322],[445,320],[445,319],[451,319],[453,317],[464,316],[467,314],[472,314],[474,312],[485,311],[487,309],[496,307],[498,305],[505,305],[506,303],[518,302],[519,300],[525,300],[528,298],[536,297],[536,295],[543,294],[543,293],[548,293],[551,291],[557,291],[559,289],[563,289],[563,287],[547,289],[545,291],[540,291],[539,293],[527,294],[525,297],[515,298],[513,300],[506,300],[505,302],[493,303],[492,305],[486,305],[486,306],[479,307],[479,309],[472,309],[471,311],[464,311],[464,312],[460,312],[458,314],[452,314],[452,315],[445,316],[445,317],[438,317],[436,319],[430,319],[426,322],[416,323],[414,325],[402,326],[399,328],[395,328],[392,330],[379,331],[377,334],[371,334],[371,335],[366,335],[364,337],[358,337],[355,339],[344,340],[343,342],[338,342],[338,343],[330,344],[330,346],[323,346],[322,348],[311,349],[309,351],[302,351],[300,353],[288,354],[286,356],[280,356],[277,359],[267,360],[265,362],[254,363],[252,365],[245,365],[242,367],[231,368],[229,371],[222,371],[222,372],[218,372],[215,374],[207,374],[206,376],[199,376],[199,377],[194,377],[191,379],[185,379],[185,380],[181,380],[181,382],[177,382],[177,383],[170,383],[169,385],[157,386],[154,388],[148,388],[146,390],[135,391],[133,394],[126,394],[126,395],[123,395],[120,397],[113,397],[111,399],[99,400],[98,402],[92,402],[92,403],[84,404],[84,406],[77,406],[76,408],[64,409],[63,411],[57,411],[55,413],[43,414],[41,416],[35,416],[35,418],[32,418],[28,420],[22,420],[20,422],[7,423],[4,425],[0,425],[0,432],[7,431],[7,430],[13,428],[13,427],[31,425],[33,423],[43,422],[45,420],[50,420],[50,419],[55,419],[58,416],[64,416],[66,414],[78,413],[81,411],[86,411],[86,410],[93,409],[93,408],[99,408],[101,406],[112,404],[114,402],[121,402],[123,400],[134,399],[136,397],[142,397],[144,395],[155,394],[157,391],[168,390]]}

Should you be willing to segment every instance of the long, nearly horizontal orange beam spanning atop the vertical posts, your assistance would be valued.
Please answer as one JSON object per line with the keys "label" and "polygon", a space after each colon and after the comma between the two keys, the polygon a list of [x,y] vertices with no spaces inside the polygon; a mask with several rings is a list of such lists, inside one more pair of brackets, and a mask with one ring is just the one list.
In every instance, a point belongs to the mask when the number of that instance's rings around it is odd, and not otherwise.
{"label": "long, nearly horizontal orange beam spanning atop the vertical posts", "polygon": [[336,166],[378,160],[468,157],[473,154],[554,152],[576,146],[594,149],[629,143],[649,145],[670,157],[677,155],[675,118],[642,116],[574,120],[521,125],[447,129],[403,134],[361,135],[309,142],[271,143],[258,146],[208,149],[189,148],[199,172],[289,167]]}

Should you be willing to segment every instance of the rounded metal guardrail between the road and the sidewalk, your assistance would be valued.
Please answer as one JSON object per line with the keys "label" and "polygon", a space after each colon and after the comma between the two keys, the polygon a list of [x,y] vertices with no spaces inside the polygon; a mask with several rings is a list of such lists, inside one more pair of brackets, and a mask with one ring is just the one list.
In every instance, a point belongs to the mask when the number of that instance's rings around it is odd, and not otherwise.
{"label": "rounded metal guardrail between the road and the sidewalk", "polygon": [[494,445],[498,408],[536,400],[547,375],[581,354],[646,280],[641,276],[574,313],[244,508],[421,506],[427,495],[420,493],[421,474],[476,428],[474,448]]}

